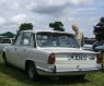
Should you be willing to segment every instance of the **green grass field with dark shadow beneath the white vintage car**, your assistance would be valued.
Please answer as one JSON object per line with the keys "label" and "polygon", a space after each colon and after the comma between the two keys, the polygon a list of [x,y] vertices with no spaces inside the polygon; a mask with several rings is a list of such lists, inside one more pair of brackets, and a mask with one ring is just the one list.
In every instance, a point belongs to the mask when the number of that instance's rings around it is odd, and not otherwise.
{"label": "green grass field with dark shadow beneath the white vintage car", "polygon": [[22,70],[4,66],[0,56],[0,86],[104,86],[104,72],[88,74],[83,79],[66,77],[51,81],[42,77],[41,81],[32,81]]}

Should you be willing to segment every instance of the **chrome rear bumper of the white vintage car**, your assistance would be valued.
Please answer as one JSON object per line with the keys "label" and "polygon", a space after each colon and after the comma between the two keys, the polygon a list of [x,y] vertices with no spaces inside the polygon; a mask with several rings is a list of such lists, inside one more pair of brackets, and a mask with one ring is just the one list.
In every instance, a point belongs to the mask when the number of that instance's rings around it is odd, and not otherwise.
{"label": "chrome rear bumper of the white vintage car", "polygon": [[39,75],[46,75],[46,76],[67,76],[67,75],[83,75],[89,73],[94,73],[101,71],[100,69],[93,69],[93,70],[76,70],[76,71],[48,71],[43,69],[37,69],[37,73]]}

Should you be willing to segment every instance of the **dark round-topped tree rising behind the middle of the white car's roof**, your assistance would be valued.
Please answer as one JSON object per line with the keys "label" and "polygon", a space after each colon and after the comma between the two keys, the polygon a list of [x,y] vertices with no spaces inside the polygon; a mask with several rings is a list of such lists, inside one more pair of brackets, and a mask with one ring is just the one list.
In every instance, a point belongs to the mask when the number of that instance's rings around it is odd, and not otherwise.
{"label": "dark round-topped tree rising behind the middle of the white car's roof", "polygon": [[53,30],[65,32],[63,24],[61,22],[49,23],[49,27],[54,28]]}

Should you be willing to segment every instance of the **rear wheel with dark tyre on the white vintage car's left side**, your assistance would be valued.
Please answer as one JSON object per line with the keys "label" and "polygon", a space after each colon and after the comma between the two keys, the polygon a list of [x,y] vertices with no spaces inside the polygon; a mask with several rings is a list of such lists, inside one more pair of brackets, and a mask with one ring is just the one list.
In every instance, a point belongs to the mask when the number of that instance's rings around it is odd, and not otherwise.
{"label": "rear wheel with dark tyre on the white vintage car's left side", "polygon": [[36,67],[35,67],[35,64],[33,62],[28,63],[27,74],[28,74],[28,77],[31,79],[37,79],[38,78],[38,75],[37,75],[37,72],[36,72]]}

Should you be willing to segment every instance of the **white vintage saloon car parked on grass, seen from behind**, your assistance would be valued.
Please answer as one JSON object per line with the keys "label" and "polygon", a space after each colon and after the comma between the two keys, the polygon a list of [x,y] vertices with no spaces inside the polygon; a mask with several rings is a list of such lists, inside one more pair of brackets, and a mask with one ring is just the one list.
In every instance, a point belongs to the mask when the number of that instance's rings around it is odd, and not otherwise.
{"label": "white vintage saloon car parked on grass, seen from behind", "polygon": [[65,32],[24,30],[14,44],[3,49],[3,63],[28,73],[30,78],[46,76],[84,76],[102,69],[102,57],[82,50],[74,35]]}

